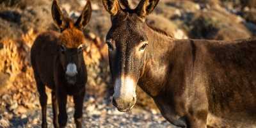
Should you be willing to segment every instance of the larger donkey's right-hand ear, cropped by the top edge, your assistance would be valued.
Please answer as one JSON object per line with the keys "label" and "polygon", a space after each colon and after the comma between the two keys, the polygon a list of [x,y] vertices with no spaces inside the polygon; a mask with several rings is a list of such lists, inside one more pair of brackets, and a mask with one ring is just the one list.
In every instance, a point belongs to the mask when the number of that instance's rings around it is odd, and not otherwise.
{"label": "larger donkey's right-hand ear, cropped by the top edge", "polygon": [[159,0],[141,0],[136,7],[136,12],[141,18],[145,18],[155,8]]}

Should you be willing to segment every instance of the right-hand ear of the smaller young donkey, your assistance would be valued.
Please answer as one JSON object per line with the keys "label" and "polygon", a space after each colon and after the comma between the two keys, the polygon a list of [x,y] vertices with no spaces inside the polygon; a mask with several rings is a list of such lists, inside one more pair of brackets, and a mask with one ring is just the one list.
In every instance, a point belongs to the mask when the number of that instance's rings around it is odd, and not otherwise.
{"label": "right-hand ear of the smaller young donkey", "polygon": [[75,26],[77,28],[83,28],[88,24],[92,15],[92,6],[90,0],[87,0],[86,5],[84,6],[83,12],[80,17],[76,20]]}

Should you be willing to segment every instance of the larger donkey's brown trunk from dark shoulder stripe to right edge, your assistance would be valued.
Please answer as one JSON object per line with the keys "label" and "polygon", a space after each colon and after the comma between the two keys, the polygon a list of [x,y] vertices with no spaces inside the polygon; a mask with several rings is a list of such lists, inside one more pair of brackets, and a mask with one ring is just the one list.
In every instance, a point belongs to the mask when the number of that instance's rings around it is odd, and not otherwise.
{"label": "larger donkey's brown trunk from dark shoulder stripe to right edge", "polygon": [[204,85],[209,111],[256,119],[256,39],[189,42],[194,54],[193,82],[198,88]]}

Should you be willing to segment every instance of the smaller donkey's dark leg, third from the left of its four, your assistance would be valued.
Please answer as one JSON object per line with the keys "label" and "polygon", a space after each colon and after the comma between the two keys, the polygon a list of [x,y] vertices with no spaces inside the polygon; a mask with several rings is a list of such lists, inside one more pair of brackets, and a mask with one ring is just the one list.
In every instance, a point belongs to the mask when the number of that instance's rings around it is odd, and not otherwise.
{"label": "smaller donkey's dark leg, third from the left of its four", "polygon": [[60,127],[65,127],[67,124],[67,110],[66,110],[66,104],[67,104],[67,93],[65,92],[59,92],[58,93],[58,106],[59,106],[59,125]]}

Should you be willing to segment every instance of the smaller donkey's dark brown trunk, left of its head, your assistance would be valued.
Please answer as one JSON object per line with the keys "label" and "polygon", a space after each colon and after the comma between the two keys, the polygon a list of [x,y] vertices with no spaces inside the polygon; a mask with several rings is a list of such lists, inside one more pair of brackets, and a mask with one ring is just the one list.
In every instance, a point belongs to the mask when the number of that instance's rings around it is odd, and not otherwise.
{"label": "smaller donkey's dark brown trunk, left of its head", "polygon": [[31,47],[31,65],[35,72],[35,77],[50,88],[54,84],[53,67],[54,57],[58,53],[58,36],[55,31],[47,31],[37,36]]}

